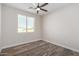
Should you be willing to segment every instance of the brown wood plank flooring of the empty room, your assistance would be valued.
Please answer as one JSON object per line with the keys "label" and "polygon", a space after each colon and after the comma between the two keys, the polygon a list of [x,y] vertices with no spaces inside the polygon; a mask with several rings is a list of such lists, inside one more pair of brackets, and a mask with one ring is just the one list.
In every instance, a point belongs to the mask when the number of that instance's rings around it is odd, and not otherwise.
{"label": "brown wood plank flooring of the empty room", "polygon": [[6,49],[1,56],[79,56],[78,52],[39,40]]}

